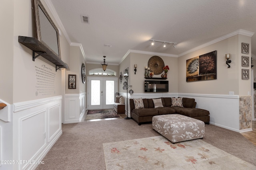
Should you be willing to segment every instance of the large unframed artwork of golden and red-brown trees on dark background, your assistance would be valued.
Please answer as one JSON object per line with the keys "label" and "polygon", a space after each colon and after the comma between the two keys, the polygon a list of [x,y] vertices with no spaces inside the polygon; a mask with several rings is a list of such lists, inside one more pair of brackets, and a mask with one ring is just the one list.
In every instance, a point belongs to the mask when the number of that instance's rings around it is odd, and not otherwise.
{"label": "large unframed artwork of golden and red-brown trees on dark background", "polygon": [[188,59],[186,61],[186,81],[217,79],[217,51]]}

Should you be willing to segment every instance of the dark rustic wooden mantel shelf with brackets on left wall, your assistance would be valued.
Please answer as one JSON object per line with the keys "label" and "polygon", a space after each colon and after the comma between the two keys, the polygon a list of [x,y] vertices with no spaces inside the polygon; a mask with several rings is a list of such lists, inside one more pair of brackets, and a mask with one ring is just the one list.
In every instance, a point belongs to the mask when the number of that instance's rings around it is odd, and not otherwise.
{"label": "dark rustic wooden mantel shelf with brackets on left wall", "polygon": [[[24,37],[24,36],[19,36],[19,43],[22,43],[29,49],[33,51],[33,58],[32,60],[35,61],[35,59],[39,56],[44,57],[48,61],[52,62],[53,64],[56,65],[56,71],[59,68],[68,68],[68,64],[64,63],[60,57],[58,57],[56,54],[54,54],[48,47],[46,47],[43,43],[38,41],[38,39],[33,38],[33,37]],[[38,55],[35,56],[35,53]]]}

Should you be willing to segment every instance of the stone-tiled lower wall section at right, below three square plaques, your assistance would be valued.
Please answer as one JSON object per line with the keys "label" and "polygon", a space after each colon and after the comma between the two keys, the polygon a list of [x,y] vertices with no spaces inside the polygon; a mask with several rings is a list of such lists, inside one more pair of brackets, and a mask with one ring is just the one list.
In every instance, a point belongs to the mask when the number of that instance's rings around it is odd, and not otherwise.
{"label": "stone-tiled lower wall section at right, below three square plaques", "polygon": [[252,97],[239,98],[239,130],[252,128]]}

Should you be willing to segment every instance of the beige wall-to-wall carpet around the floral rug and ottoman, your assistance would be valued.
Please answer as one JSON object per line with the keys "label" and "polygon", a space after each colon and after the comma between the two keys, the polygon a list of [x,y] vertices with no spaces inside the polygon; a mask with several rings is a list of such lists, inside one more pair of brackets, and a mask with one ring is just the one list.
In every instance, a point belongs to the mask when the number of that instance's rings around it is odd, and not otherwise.
{"label": "beige wall-to-wall carpet around the floral rug and ottoman", "polygon": [[[62,132],[37,170],[104,170],[103,143],[160,136],[132,119],[63,124]],[[238,132],[206,125],[202,141],[256,166],[256,146]]]}

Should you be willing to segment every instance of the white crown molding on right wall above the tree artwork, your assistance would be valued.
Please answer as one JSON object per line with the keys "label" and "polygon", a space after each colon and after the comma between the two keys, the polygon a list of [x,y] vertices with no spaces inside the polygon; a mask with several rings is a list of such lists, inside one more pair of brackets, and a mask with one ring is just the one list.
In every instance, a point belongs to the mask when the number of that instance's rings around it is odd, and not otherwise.
{"label": "white crown molding on right wall above the tree artwork", "polygon": [[184,53],[179,54],[178,57],[183,56],[183,55],[186,55],[186,54],[191,53],[191,52],[193,52],[193,51],[196,51],[196,50],[198,50],[198,49],[202,49],[203,47],[206,47],[206,46],[208,46],[208,45],[212,45],[212,44],[214,44],[214,43],[217,43],[217,42],[219,42],[219,41],[222,41],[222,40],[224,40],[224,39],[227,39],[227,38],[229,38],[229,37],[232,37],[232,36],[238,35],[238,34],[246,35],[246,36],[249,36],[249,37],[252,37],[252,35],[254,35],[253,32],[246,31],[246,30],[243,30],[243,29],[238,29],[237,31],[234,31],[234,32],[232,32],[232,33],[229,33],[229,34],[227,34],[227,35],[224,35],[224,36],[219,37],[219,38],[217,38],[217,39],[214,39],[214,40],[212,40],[212,41],[209,41],[208,43],[205,43],[205,44],[203,44],[203,45],[200,45],[200,46],[198,46],[198,47],[196,47],[196,48],[193,48],[193,49],[190,49],[190,50],[188,50],[188,51],[185,51]]}

